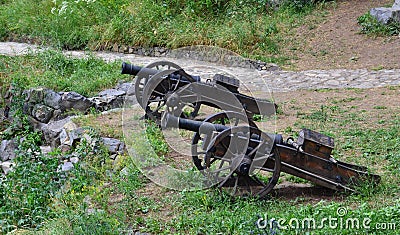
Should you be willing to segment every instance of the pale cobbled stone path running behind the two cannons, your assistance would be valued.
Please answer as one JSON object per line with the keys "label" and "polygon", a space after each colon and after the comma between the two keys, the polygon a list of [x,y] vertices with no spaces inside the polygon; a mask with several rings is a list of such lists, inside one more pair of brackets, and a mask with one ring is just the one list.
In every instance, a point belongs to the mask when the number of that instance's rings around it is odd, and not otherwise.
{"label": "pale cobbled stone path running behind the two cannons", "polygon": [[[40,51],[34,45],[0,42],[0,54],[15,56],[29,52]],[[83,51],[67,51],[66,55],[73,57],[84,57]],[[154,61],[168,60],[177,63],[181,67],[199,74],[206,70],[213,69],[234,74],[241,80],[249,90],[287,92],[299,89],[340,89],[340,88],[372,88],[400,85],[400,69],[369,71],[366,69],[348,70],[307,70],[300,72],[293,71],[257,71],[249,68],[226,67],[190,59],[173,59],[166,57],[145,57],[133,54],[121,54],[115,52],[93,52],[94,55],[106,61],[121,60],[138,65],[147,65]],[[192,71],[191,71],[192,70]],[[203,71],[200,71],[203,70]],[[210,74],[212,72],[209,72]]]}

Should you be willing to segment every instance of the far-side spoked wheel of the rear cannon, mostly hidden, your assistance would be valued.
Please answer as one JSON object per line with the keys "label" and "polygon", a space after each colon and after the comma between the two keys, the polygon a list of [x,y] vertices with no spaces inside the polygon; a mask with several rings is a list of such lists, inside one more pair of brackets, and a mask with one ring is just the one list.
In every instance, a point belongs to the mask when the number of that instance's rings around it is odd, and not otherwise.
{"label": "far-side spoked wheel of the rear cannon, mostly hidden", "polygon": [[[157,61],[144,67],[143,71],[139,71],[139,73],[136,75],[136,81],[135,81],[135,96],[140,105],[142,105],[144,87],[149,82],[149,80],[154,76],[154,75],[149,76],[145,72],[145,69],[153,69],[162,72],[164,70],[176,71],[181,69],[181,67],[169,61]],[[145,107],[146,105],[142,106],[142,108]]]}

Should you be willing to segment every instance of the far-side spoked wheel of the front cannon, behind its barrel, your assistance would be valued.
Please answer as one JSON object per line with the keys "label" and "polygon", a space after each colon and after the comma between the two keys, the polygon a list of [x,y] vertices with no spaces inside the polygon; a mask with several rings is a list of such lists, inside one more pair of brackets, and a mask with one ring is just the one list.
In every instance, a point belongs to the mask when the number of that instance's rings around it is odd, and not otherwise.
{"label": "far-side spoked wheel of the front cannon, behind its barrel", "polygon": [[[257,128],[253,120],[248,119],[246,115],[232,111],[216,113],[204,119],[204,122],[222,124],[227,127],[252,126]],[[208,143],[205,142],[207,139],[211,140],[212,137],[198,132],[192,138],[192,160],[196,168],[200,171],[206,168],[204,157],[208,147]]]}

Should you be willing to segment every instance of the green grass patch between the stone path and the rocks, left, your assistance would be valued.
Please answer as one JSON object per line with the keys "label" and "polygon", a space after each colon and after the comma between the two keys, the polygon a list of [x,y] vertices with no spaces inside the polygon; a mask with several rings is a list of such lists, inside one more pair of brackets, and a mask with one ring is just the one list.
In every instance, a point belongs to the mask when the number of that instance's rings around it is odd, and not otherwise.
{"label": "green grass patch between the stone path and the rocks, left", "polygon": [[25,56],[0,56],[0,66],[2,95],[11,84],[18,83],[22,89],[43,86],[92,96],[128,79],[119,74],[119,62],[106,63],[94,56],[72,58],[54,50]]}

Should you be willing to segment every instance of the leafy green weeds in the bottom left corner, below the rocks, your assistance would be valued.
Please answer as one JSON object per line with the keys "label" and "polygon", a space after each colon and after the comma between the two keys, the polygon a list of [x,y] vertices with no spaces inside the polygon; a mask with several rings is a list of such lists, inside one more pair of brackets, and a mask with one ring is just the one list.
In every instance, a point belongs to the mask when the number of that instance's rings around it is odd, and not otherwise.
{"label": "leafy green weeds in the bottom left corner, below the rocks", "polygon": [[0,180],[3,232],[15,228],[39,228],[45,219],[54,216],[48,205],[63,180],[57,173],[58,159],[41,154],[40,135],[27,134],[20,140],[15,167]]}

